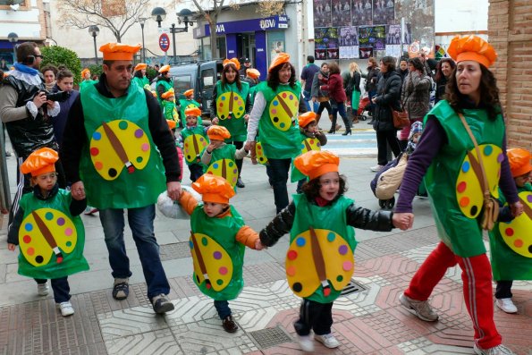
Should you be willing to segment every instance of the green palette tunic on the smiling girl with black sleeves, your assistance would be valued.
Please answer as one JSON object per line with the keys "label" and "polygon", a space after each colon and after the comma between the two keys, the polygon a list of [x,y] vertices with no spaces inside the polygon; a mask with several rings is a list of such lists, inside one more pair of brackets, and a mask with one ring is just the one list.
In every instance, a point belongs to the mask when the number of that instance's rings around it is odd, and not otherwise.
{"label": "green palette tunic on the smiling girl with black sleeves", "polygon": [[341,196],[325,207],[293,195],[296,213],[286,253],[286,276],[291,290],[319,303],[336,300],[354,271],[355,230],[347,224],[352,199]]}

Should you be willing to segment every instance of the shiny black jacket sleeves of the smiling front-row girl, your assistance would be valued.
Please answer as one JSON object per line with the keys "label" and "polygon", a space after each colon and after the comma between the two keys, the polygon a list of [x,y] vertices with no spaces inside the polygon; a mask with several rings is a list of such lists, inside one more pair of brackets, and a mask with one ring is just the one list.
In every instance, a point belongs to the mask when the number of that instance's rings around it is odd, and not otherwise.
{"label": "shiny black jacket sleeves of the smiling front-row girl", "polygon": [[[260,242],[267,247],[274,245],[284,234],[290,232],[295,214],[296,206],[292,201],[274,217],[272,222],[266,225],[266,228],[260,231]],[[355,228],[377,232],[390,232],[393,229],[393,212],[391,211],[372,211],[364,207],[357,207],[353,203],[347,207],[345,215],[347,216],[347,224]]]}

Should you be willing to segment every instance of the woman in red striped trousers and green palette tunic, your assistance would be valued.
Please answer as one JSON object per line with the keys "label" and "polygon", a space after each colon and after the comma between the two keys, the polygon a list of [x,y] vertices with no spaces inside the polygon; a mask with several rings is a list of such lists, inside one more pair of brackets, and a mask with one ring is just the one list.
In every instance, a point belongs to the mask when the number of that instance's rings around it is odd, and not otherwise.
{"label": "woman in red striped trousers and green palette tunic", "polygon": [[[457,62],[447,86],[448,98],[426,114],[425,131],[410,156],[395,208],[396,213],[413,221],[411,201],[426,174],[426,190],[442,241],[418,269],[400,301],[420,319],[437,320],[427,299],[447,268],[458,263],[475,330],[474,350],[477,354],[511,354],[501,344],[501,334],[494,324],[491,266],[480,224],[484,213],[482,170],[486,171],[486,185],[494,198],[499,197],[500,186],[512,215],[519,216],[523,209],[506,157],[499,92],[493,73],[487,69],[497,55],[477,36],[453,38],[448,53]],[[477,140],[480,156],[466,125]]]}

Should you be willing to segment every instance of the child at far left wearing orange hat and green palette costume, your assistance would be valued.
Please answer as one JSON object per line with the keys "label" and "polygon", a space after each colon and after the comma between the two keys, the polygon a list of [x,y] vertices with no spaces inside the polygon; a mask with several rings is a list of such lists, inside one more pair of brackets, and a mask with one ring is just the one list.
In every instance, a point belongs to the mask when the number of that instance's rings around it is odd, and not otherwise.
{"label": "child at far left wearing orange hat and green palette costume", "polygon": [[39,295],[48,294],[46,280],[51,279],[55,303],[66,317],[74,313],[67,276],[89,270],[83,257],[85,229],[80,218],[87,200],[72,199],[69,191],[59,189],[57,160],[55,150],[40,148],[22,163],[21,172],[31,174],[34,190],[21,198],[7,248],[20,245],[19,274],[35,278]]}

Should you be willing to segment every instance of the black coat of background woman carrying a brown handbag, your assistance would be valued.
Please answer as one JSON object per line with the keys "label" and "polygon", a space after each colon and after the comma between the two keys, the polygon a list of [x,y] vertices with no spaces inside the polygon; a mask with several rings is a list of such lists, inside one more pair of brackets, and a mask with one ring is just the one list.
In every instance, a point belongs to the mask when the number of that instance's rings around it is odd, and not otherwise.
{"label": "black coat of background woman carrying a brown handbag", "polygon": [[393,131],[392,108],[401,110],[401,75],[397,72],[384,72],[376,89],[375,131]]}

